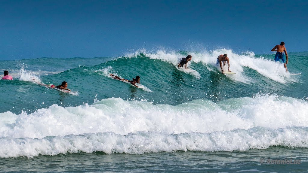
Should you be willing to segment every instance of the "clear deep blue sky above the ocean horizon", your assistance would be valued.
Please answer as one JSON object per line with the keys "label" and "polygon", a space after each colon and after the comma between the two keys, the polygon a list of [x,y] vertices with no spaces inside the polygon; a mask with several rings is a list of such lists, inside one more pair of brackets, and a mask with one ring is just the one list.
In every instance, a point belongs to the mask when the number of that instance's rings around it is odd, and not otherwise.
{"label": "clear deep blue sky above the ocean horizon", "polygon": [[308,1],[0,1],[0,59],[307,51]]}

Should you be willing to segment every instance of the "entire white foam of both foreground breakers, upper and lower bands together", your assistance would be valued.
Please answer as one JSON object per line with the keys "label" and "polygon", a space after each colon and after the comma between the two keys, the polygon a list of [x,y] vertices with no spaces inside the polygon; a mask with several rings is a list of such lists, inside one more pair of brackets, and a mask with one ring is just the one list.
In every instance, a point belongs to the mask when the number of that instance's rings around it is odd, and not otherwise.
{"label": "entire white foam of both foreground breakers, upper and lower bands together", "polygon": [[0,113],[0,157],[308,147],[307,117],[306,101],[268,94],[177,106],[120,98],[52,105],[30,114]]}

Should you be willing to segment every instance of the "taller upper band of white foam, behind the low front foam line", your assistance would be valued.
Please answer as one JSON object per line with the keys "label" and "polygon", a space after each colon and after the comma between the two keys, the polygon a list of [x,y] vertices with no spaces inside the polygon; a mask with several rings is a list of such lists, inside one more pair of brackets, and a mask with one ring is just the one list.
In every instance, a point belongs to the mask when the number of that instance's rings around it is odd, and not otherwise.
{"label": "taller upper band of white foam, behind the low front foam line", "polygon": [[[6,114],[12,115],[6,112],[0,118]],[[218,103],[201,99],[177,106],[108,98],[77,107],[52,105],[31,114],[22,112],[11,117],[14,117],[14,123],[5,123],[2,129],[6,130],[0,131],[0,137],[43,138],[96,132],[126,135],[137,131],[211,133],[237,128],[307,127],[308,103],[276,95],[228,99]]]}

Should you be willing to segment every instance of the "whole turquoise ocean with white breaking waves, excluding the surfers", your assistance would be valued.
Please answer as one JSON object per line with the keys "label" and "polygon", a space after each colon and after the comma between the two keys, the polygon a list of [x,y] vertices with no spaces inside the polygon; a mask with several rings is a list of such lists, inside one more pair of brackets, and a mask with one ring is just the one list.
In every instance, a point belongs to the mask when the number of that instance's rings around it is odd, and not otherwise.
{"label": "whole turquoise ocean with white breaking waves, excluding the surfers", "polygon": [[[236,74],[215,65],[225,53]],[[188,54],[190,73],[177,67]],[[274,56],[0,61],[14,79],[0,80],[0,172],[307,172],[308,52],[289,53],[300,75]],[[63,81],[73,92],[44,86]]]}

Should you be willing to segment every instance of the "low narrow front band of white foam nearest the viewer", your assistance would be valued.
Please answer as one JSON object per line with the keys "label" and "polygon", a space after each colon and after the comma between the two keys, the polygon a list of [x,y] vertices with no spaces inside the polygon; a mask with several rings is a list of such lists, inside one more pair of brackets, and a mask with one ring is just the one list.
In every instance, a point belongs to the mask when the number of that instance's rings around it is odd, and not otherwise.
{"label": "low narrow front band of white foam nearest the viewer", "polygon": [[153,132],[136,132],[120,135],[112,132],[84,133],[80,135],[48,136],[43,139],[0,138],[0,157],[33,157],[60,153],[111,153],[142,154],[173,151],[246,151],[270,146],[308,147],[306,127],[248,130],[213,133],[182,133],[166,135]]}

